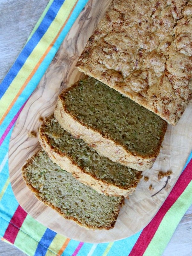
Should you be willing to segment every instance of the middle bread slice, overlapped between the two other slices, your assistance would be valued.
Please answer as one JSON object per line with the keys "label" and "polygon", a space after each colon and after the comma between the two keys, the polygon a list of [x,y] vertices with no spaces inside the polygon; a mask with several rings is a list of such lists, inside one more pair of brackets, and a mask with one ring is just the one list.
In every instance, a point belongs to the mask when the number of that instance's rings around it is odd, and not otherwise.
{"label": "middle bread slice, overlapped between the two other slices", "polygon": [[83,140],[75,139],[61,128],[54,116],[45,119],[40,126],[39,141],[61,169],[100,193],[127,197],[140,181],[141,172],[100,156]]}

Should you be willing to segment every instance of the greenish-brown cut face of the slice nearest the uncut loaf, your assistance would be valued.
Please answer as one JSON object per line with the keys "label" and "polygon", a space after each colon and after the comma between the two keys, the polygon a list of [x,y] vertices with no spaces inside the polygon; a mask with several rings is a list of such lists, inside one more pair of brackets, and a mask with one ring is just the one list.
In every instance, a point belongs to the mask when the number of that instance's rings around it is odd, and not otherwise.
{"label": "greenish-brown cut face of the slice nearest the uncut loaf", "polygon": [[159,154],[167,123],[113,88],[86,76],[60,95],[78,122],[140,157]]}

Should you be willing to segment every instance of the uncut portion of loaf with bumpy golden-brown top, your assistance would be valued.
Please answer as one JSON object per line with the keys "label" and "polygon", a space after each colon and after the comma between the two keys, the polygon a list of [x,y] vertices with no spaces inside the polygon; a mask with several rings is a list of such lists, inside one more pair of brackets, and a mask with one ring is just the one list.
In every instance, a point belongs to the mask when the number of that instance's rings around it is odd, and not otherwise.
{"label": "uncut portion of loaf with bumpy golden-brown top", "polygon": [[113,0],[76,67],[175,125],[192,97],[191,41],[191,0]]}

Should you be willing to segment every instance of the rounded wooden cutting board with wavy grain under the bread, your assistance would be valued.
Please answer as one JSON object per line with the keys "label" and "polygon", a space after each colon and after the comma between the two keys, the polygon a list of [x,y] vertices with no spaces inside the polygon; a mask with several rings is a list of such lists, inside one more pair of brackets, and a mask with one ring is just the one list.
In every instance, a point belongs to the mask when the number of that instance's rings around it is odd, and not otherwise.
{"label": "rounded wooden cutting board with wavy grain under the bread", "polygon": [[[168,126],[160,155],[153,168],[143,172],[143,178],[136,191],[129,200],[126,199],[115,227],[108,231],[86,230],[73,221],[63,219],[57,212],[38,201],[22,180],[22,166],[40,148],[36,136],[41,124],[39,118],[49,116],[55,108],[61,90],[82,76],[74,66],[109,2],[110,0],[91,0],[81,12],[17,119],[9,147],[11,185],[23,209],[55,232],[89,243],[123,239],[144,228],[178,180],[192,149],[192,102],[190,102],[179,123],[175,127]],[[171,171],[172,174],[159,180],[160,171]],[[148,177],[148,181],[145,176]]]}

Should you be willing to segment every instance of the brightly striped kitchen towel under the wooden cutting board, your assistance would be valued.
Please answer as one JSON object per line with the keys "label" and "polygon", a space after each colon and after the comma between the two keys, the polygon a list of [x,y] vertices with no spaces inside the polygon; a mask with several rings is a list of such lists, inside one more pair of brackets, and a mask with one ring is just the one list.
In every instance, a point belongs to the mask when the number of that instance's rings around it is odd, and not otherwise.
{"label": "brightly striped kitchen towel under the wooden cutting board", "polygon": [[[192,204],[191,156],[171,193],[143,230],[120,241],[89,244],[46,228],[18,204],[9,180],[12,128],[88,0],[51,0],[0,87],[0,236],[30,256],[160,256]],[[167,226],[169,225],[169,230]]]}

